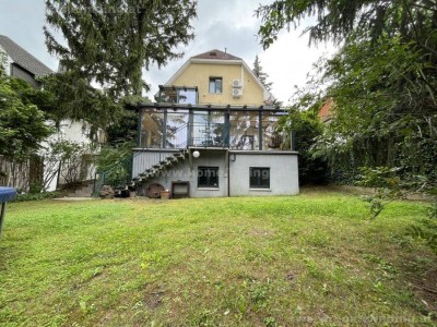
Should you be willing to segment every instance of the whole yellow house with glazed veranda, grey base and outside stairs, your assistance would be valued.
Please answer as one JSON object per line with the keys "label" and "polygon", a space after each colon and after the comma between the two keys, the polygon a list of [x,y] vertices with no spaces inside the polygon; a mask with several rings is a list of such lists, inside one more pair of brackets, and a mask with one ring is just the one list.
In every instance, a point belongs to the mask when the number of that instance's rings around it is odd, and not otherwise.
{"label": "whole yellow house with glazed veranda, grey base and outside stairs", "polygon": [[157,102],[140,106],[132,178],[138,194],[173,197],[297,194],[297,153],[276,131],[280,108],[243,59],[191,57]]}

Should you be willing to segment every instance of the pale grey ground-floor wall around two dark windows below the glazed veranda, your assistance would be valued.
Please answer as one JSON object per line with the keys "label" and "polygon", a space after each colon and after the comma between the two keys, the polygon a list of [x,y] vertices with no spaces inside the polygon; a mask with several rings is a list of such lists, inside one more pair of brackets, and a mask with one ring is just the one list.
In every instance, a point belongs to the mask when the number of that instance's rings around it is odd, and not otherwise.
{"label": "pale grey ground-floor wall around two dark windows below the glazed veranda", "polygon": [[[146,187],[158,183],[172,190],[172,181],[188,181],[191,197],[220,197],[243,195],[294,195],[299,193],[297,153],[295,152],[229,152],[227,168],[226,149],[198,149],[199,158],[192,158],[192,170],[187,158],[164,171],[161,177],[147,180],[139,187],[139,195],[144,195]],[[151,154],[154,155],[154,154]],[[147,152],[142,153],[147,156]],[[235,160],[234,160],[235,159]],[[198,168],[218,167],[218,187],[198,187]],[[270,168],[270,189],[249,187],[249,168]],[[229,181],[229,186],[228,186]],[[231,194],[228,194],[228,190]]]}

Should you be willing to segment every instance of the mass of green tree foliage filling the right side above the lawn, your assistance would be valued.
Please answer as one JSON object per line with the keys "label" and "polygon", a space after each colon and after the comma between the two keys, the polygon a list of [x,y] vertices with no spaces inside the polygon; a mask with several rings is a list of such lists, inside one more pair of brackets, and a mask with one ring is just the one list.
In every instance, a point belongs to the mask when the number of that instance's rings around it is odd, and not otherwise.
{"label": "mass of green tree foliage filling the right side above the lawn", "polygon": [[[311,41],[340,51],[319,64],[315,97],[332,98],[333,119],[314,146],[333,171],[397,167],[411,179],[436,181],[437,4],[422,0],[280,0],[257,11],[261,44],[307,16]],[[315,87],[317,84],[328,88]],[[322,89],[320,92],[320,89]]]}

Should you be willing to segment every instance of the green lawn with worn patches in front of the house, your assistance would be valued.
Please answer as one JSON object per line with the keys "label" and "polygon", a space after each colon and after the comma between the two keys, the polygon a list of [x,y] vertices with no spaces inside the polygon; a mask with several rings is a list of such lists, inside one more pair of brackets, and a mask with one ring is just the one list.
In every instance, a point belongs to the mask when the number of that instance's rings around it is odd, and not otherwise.
{"label": "green lawn with worn patches in front of the house", "polygon": [[405,237],[425,214],[327,192],[10,204],[0,325],[433,325],[414,280],[437,258]]}

